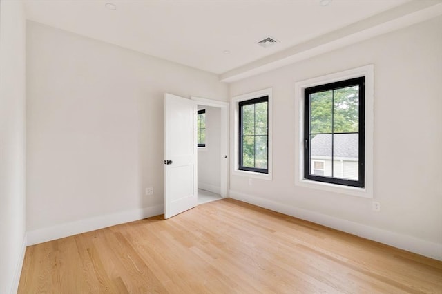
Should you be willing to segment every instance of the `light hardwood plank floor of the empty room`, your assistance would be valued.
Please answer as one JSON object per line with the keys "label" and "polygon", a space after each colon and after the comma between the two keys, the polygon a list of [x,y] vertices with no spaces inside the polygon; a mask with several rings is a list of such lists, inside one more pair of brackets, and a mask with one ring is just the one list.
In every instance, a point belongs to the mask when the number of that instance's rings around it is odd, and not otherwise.
{"label": "light hardwood plank floor of the empty room", "polygon": [[19,293],[442,293],[442,262],[224,199],[30,246]]}

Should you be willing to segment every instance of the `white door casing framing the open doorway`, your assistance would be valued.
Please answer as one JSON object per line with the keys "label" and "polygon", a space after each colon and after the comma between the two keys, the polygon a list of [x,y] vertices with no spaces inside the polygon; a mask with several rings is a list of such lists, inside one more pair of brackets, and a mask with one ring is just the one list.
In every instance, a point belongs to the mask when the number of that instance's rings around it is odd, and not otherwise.
{"label": "white door casing framing the open doorway", "polygon": [[[213,99],[191,96],[193,101],[197,101],[198,105],[218,107],[221,109],[221,139],[220,139],[220,191],[218,192],[222,198],[227,197],[229,190],[229,102],[218,101]],[[198,151],[207,151],[209,147],[202,147]],[[227,158],[224,158],[227,156]]]}

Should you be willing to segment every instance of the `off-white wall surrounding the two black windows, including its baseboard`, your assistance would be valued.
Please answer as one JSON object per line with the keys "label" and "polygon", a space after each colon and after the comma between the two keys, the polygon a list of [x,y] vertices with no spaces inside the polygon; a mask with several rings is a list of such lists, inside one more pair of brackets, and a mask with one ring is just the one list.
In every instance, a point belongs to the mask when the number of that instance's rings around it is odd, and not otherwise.
{"label": "off-white wall surrounding the two black windows, including its baseboard", "polygon": [[[232,175],[231,196],[442,259],[441,28],[439,17],[231,83],[230,96],[273,87],[275,131],[273,181],[249,186],[247,177]],[[381,213],[371,199],[294,185],[294,83],[372,63]]]}

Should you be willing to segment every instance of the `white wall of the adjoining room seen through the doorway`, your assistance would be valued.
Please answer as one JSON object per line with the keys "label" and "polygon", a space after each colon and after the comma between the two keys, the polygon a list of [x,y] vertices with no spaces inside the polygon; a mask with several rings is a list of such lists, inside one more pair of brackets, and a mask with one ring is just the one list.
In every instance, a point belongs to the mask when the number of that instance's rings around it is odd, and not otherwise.
{"label": "white wall of the adjoining room seen through the doorway", "polygon": [[206,147],[198,148],[198,188],[220,193],[221,109],[209,106],[198,109],[206,109]]}

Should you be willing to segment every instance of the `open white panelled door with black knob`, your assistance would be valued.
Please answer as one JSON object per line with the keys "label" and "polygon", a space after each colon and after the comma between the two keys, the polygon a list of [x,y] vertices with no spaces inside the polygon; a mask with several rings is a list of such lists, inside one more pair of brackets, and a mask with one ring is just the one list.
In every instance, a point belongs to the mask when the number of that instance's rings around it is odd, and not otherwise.
{"label": "open white panelled door with black knob", "polygon": [[198,202],[197,103],[164,94],[164,218]]}

